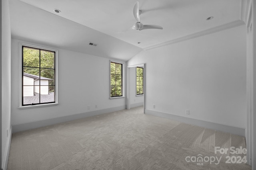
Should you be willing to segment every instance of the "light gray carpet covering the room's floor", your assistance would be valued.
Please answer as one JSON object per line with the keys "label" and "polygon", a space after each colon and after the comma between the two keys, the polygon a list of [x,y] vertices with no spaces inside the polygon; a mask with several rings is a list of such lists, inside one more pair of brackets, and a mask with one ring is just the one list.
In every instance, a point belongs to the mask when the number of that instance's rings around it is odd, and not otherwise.
{"label": "light gray carpet covering the room's floor", "polygon": [[[251,169],[244,163],[225,163],[227,155],[245,154],[215,154],[215,146],[246,144],[244,137],[146,115],[136,107],[14,133],[8,170]],[[207,158],[186,161],[199,154],[222,158],[217,165]]]}

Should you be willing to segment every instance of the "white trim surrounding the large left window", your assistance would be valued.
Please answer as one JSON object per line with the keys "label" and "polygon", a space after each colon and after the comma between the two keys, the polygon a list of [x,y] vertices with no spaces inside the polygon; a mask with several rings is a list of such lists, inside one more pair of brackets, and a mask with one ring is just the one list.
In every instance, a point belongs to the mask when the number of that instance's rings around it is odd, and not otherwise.
{"label": "white trim surrounding the large left window", "polygon": [[[35,105],[24,105],[22,106],[22,80],[23,80],[23,54],[22,54],[22,47],[31,47],[31,48],[36,48],[36,49],[42,49],[46,51],[53,51],[55,52],[55,102],[51,103],[42,103],[42,104],[35,104]],[[20,106],[18,108],[20,109],[25,109],[25,108],[36,108],[36,107],[48,107],[48,106],[55,106],[58,105],[58,50],[56,49],[50,49],[48,47],[44,46],[37,46],[37,45],[31,45],[31,44],[26,44],[26,43],[20,43]]]}

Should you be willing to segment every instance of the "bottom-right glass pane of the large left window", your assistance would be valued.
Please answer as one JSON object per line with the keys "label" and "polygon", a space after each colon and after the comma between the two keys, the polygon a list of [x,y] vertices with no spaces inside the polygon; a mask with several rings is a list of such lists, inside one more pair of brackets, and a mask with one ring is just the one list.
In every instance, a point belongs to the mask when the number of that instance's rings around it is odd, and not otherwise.
{"label": "bottom-right glass pane of the large left window", "polygon": [[55,102],[54,86],[40,86],[40,103]]}

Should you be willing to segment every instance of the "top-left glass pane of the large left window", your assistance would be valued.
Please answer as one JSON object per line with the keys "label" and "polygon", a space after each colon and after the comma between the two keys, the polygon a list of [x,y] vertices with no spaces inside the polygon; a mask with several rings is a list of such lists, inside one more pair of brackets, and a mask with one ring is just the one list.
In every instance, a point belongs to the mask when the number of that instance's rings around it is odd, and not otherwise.
{"label": "top-left glass pane of the large left window", "polygon": [[39,49],[23,47],[23,66],[39,67]]}

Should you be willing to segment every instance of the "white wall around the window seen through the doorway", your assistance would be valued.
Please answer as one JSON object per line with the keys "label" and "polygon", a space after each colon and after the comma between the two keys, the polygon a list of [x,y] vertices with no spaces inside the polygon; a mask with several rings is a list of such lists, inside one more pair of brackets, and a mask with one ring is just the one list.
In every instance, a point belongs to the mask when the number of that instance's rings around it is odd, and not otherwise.
{"label": "white wall around the window seen through the doorway", "polygon": [[136,95],[136,67],[130,68],[130,106],[137,107],[143,105],[143,95]]}

